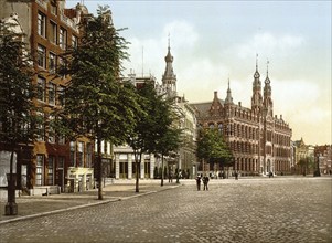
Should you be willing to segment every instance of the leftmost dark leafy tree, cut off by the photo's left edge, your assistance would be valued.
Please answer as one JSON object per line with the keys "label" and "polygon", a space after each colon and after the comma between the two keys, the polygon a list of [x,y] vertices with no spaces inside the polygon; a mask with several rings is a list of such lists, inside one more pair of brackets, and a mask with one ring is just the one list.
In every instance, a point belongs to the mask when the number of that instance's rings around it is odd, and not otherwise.
{"label": "leftmost dark leafy tree, cut off by the photo's left edge", "polygon": [[0,21],[0,142],[11,149],[10,214],[17,214],[13,157],[20,146],[33,142],[38,122],[32,62],[23,41],[24,34],[14,31],[18,28],[14,23]]}

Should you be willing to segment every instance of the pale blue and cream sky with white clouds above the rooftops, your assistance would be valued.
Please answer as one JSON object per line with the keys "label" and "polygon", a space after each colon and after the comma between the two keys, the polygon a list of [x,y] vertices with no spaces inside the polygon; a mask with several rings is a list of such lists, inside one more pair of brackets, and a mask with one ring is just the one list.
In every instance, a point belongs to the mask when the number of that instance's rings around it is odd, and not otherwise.
{"label": "pale blue and cream sky with white clouds above the rooftops", "polygon": [[124,75],[131,68],[160,82],[170,33],[180,95],[206,102],[217,91],[224,99],[229,77],[233,101],[250,107],[258,53],[263,82],[270,63],[274,114],[290,124],[292,139],[331,144],[331,1],[83,2],[92,13],[109,6],[115,27],[128,28]]}

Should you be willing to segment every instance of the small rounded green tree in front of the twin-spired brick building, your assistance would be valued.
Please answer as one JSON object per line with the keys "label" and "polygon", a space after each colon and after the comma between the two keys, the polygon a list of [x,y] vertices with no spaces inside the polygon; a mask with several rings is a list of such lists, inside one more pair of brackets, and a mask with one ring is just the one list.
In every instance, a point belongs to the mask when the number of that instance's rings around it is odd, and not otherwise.
{"label": "small rounded green tree in front of the twin-spired brick building", "polygon": [[223,167],[233,163],[232,151],[217,129],[200,130],[196,155],[203,162],[218,162]]}

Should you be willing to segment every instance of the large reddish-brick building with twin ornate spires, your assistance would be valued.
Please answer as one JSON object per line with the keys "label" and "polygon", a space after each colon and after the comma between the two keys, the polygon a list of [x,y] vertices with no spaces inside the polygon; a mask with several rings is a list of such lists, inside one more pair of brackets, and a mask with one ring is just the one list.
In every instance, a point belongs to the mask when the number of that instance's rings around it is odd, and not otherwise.
{"label": "large reddish-brick building with twin ornate spires", "polygon": [[251,107],[233,102],[229,80],[225,99],[214,92],[212,102],[191,105],[200,127],[217,128],[224,136],[235,159],[233,171],[247,176],[291,173],[292,130],[282,115],[274,116],[271,81],[267,71],[263,87],[257,60]]}

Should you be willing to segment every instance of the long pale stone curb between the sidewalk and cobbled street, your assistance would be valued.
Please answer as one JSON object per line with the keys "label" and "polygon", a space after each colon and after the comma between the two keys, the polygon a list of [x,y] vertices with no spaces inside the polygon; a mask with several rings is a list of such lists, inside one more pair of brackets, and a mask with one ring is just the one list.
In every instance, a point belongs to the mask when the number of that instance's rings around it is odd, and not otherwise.
{"label": "long pale stone curb between the sidewalk and cobbled street", "polygon": [[[180,186],[181,184],[173,186],[171,188],[164,188],[160,191],[174,189],[174,188],[178,188]],[[35,214],[19,216],[19,218],[14,218],[14,219],[10,219],[10,220],[2,220],[2,221],[0,221],[0,225],[6,224],[6,223],[22,221],[22,220],[35,219],[35,218],[40,218],[40,216],[45,216],[45,215],[51,215],[51,214],[55,214],[55,213],[66,212],[66,211],[75,210],[75,209],[83,209],[83,208],[87,208],[87,207],[94,207],[94,205],[107,204],[107,203],[110,203],[110,202],[118,202],[118,201],[129,200],[129,199],[132,199],[132,198],[138,198],[138,197],[142,197],[142,196],[151,194],[151,193],[157,193],[157,192],[160,192],[160,191],[147,191],[147,192],[143,192],[143,193],[140,193],[140,194],[129,196],[129,197],[126,197],[126,198],[108,199],[108,200],[103,200],[100,202],[93,202],[93,203],[87,203],[87,204],[82,204],[82,205],[74,205],[74,207],[69,207],[69,208],[66,208],[66,209],[57,209],[57,210],[53,210],[53,211],[49,211],[49,212],[35,213]]]}

